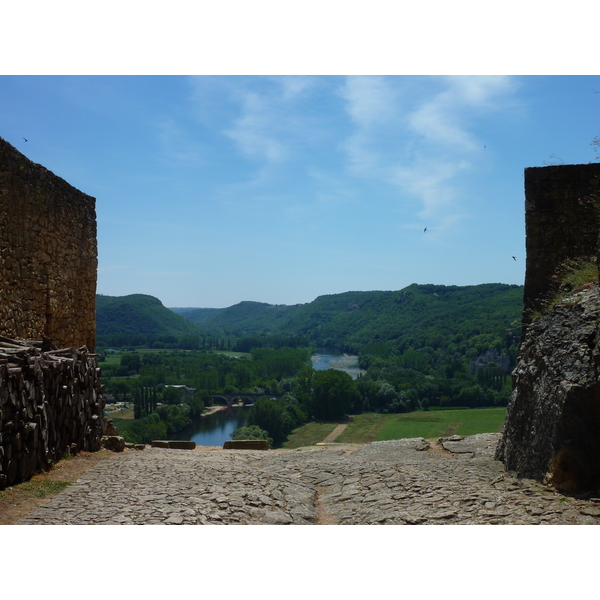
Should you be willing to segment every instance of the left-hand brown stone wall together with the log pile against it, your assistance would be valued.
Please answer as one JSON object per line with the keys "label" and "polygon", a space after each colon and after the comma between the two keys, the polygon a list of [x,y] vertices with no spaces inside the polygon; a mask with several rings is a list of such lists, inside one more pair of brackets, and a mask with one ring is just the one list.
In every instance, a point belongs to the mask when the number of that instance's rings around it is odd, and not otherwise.
{"label": "left-hand brown stone wall together with the log pile against it", "polygon": [[0,489],[100,449],[96,273],[95,199],[0,138]]}

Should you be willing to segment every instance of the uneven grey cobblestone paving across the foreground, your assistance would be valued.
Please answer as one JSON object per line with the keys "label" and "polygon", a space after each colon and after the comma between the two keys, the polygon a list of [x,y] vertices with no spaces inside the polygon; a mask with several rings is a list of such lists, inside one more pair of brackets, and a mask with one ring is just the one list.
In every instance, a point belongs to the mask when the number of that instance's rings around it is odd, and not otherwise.
{"label": "uneven grey cobblestone paving across the foreground", "polygon": [[497,434],[297,450],[127,451],[19,524],[596,524],[600,500],[517,480]]}

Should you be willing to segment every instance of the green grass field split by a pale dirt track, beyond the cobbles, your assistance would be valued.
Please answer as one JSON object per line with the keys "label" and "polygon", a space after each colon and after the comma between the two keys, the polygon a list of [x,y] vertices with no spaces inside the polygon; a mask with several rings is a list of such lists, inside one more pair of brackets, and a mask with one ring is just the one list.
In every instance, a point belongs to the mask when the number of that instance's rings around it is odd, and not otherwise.
{"label": "green grass field split by a pale dirt track, beyond the cobbles", "polygon": [[[382,415],[356,415],[335,441],[367,444],[384,440],[423,437],[449,437],[454,434],[474,435],[501,431],[506,408],[472,408],[469,410],[417,411]],[[284,448],[313,446],[322,442],[337,423],[307,423],[296,429]]]}

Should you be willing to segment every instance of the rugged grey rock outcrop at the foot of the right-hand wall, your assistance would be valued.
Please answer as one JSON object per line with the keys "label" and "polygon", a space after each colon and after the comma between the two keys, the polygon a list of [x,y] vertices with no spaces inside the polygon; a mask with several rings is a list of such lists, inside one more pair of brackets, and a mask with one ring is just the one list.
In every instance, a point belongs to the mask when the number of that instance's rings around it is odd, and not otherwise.
{"label": "rugged grey rock outcrop at the foot of the right-hand wall", "polygon": [[496,458],[564,492],[600,488],[600,294],[567,296],[529,327]]}

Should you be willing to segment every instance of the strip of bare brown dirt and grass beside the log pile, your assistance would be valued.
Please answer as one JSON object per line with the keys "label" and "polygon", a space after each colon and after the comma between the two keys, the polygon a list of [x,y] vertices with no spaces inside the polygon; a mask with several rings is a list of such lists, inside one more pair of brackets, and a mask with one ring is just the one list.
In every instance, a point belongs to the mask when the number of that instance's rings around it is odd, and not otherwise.
{"label": "strip of bare brown dirt and grass beside the log pile", "polygon": [[0,492],[0,525],[14,525],[34,508],[54,494],[49,492],[44,482],[73,483],[95,467],[108,460],[112,452],[80,452],[67,460],[61,460],[50,471],[34,475],[29,481],[7,487]]}

